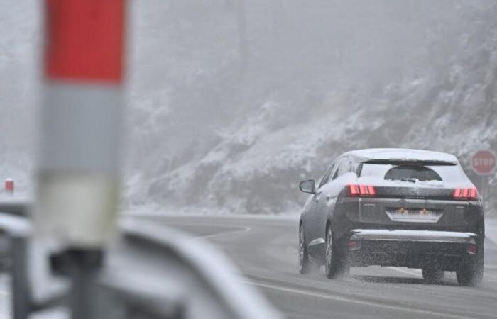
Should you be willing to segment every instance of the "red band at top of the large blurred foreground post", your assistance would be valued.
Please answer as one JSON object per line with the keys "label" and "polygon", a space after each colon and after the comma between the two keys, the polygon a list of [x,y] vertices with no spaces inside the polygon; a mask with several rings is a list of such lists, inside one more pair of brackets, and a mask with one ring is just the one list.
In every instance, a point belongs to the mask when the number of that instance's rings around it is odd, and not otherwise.
{"label": "red band at top of the large blurred foreground post", "polygon": [[120,83],[125,0],[45,1],[45,77]]}

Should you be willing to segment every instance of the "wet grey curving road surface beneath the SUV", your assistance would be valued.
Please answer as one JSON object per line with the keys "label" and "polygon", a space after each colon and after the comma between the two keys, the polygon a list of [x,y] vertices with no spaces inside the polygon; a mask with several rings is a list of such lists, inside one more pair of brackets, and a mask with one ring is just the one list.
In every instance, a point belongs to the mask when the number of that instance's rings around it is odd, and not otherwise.
{"label": "wet grey curving road surface beneath the SUV", "polygon": [[497,318],[497,246],[486,243],[481,288],[422,281],[417,269],[353,268],[329,280],[297,272],[297,219],[257,216],[143,216],[212,242],[288,318]]}

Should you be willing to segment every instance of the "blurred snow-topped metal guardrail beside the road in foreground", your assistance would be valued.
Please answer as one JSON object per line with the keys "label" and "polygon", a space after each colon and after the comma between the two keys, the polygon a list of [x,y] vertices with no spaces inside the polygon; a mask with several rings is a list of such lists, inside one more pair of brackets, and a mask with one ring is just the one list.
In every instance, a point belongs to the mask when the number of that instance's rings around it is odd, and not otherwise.
{"label": "blurred snow-topped metal guardrail beside the road in foreground", "polygon": [[[94,319],[280,318],[255,289],[242,283],[226,257],[202,240],[192,241],[151,221],[123,218],[118,237],[103,255],[96,250],[94,259],[77,260],[83,254],[75,250],[54,254],[33,242],[27,213],[26,203],[0,203],[0,230],[9,242],[4,254],[10,259],[15,319],[69,306],[71,298],[78,298],[84,318]],[[38,256],[38,265],[33,255]],[[40,274],[40,256],[50,265],[45,269],[50,274]],[[95,263],[101,267],[93,267]],[[38,275],[66,283],[70,278],[72,284],[35,298],[39,282],[33,276]],[[84,298],[89,298],[91,307],[84,308]]]}

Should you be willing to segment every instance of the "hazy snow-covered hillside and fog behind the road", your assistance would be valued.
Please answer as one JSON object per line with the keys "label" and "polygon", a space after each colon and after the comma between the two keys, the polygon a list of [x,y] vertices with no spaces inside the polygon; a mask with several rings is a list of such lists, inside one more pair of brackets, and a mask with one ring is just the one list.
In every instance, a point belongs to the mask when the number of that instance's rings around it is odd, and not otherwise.
{"label": "hazy snow-covered hillside and fog behind the road", "polygon": [[[0,0],[0,179],[32,182],[40,1]],[[363,147],[454,153],[497,207],[497,2],[130,1],[124,206],[294,213]]]}

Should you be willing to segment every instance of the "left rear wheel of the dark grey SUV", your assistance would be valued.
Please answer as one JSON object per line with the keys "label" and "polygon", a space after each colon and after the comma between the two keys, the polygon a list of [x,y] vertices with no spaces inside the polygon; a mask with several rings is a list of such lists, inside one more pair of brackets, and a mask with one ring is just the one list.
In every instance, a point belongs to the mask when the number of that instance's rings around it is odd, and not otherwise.
{"label": "left rear wheel of the dark grey SUV", "polygon": [[324,272],[329,279],[349,274],[350,267],[346,263],[346,254],[340,250],[333,240],[332,228],[326,231],[326,250],[324,252]]}

